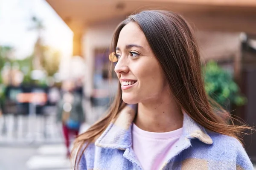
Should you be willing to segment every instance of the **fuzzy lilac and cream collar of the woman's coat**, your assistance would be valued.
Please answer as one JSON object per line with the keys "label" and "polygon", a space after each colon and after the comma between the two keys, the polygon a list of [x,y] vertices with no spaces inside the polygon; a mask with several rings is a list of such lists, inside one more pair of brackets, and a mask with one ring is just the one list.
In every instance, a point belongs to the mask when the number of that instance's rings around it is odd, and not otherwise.
{"label": "fuzzy lilac and cream collar of the woman's coat", "polygon": [[[135,111],[125,107],[117,119],[108,125],[107,129],[96,140],[98,147],[125,150],[132,145],[132,122]],[[201,125],[198,125],[191,117],[183,112],[183,137],[187,139],[198,139],[205,144],[212,144],[212,139]]]}

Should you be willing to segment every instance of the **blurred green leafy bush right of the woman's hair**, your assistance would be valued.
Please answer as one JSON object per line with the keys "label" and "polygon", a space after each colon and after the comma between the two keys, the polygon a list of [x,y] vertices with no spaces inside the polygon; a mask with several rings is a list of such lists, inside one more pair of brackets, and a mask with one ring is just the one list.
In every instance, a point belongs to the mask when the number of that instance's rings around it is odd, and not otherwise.
{"label": "blurred green leafy bush right of the woman's hair", "polygon": [[[205,72],[204,72],[205,71]],[[205,90],[209,97],[224,108],[230,104],[244,105],[247,99],[240,93],[239,86],[233,81],[232,75],[210,61],[203,67]]]}

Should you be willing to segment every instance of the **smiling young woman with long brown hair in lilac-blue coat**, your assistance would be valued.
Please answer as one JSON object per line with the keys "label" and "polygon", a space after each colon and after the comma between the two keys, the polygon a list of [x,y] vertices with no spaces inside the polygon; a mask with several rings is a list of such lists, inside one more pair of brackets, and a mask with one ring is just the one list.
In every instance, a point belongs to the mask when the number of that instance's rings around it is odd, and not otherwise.
{"label": "smiling young woman with long brown hair in lilac-blue coat", "polygon": [[119,90],[108,115],[76,139],[75,169],[253,170],[238,137],[246,127],[228,125],[209,102],[198,45],[180,15],[129,16],[113,51]]}

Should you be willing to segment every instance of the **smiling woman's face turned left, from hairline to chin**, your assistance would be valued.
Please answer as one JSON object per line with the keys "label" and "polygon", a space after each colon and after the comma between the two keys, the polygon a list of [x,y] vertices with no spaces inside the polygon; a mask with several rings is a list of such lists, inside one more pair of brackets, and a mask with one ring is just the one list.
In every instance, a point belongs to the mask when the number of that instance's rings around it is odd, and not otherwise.
{"label": "smiling woman's face turned left, from hairline to chin", "polygon": [[134,23],[122,28],[116,45],[115,72],[125,103],[154,102],[168,94],[168,85],[143,31]]}

